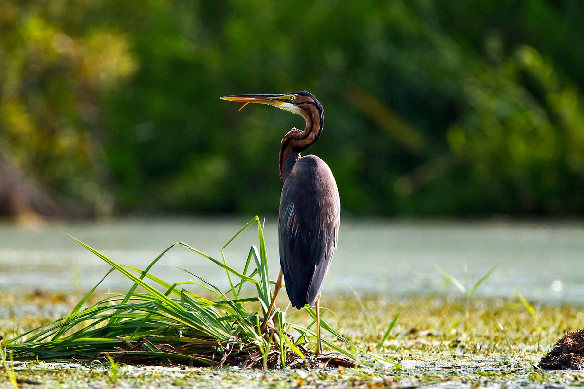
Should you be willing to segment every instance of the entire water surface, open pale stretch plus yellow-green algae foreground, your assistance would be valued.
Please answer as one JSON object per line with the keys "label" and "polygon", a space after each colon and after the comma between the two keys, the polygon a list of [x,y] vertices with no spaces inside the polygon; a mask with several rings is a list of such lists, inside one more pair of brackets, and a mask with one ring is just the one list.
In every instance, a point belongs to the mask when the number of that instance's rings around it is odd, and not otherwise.
{"label": "entire water surface, open pale stretch plus yellow-green algae foreground", "polygon": [[[113,260],[144,268],[174,241],[214,257],[242,219],[141,219],[108,223],[47,223],[36,229],[0,225],[0,331],[10,338],[66,315],[108,267],[72,240]],[[277,223],[266,220],[272,278],[277,274]],[[364,222],[343,220],[338,252],[325,286],[324,319],[361,349],[401,363],[363,359],[359,369],[262,370],[144,367],[69,363],[8,363],[0,387],[27,388],[299,387],[299,388],[543,388],[580,386],[580,372],[537,369],[566,330],[584,327],[584,225],[566,223]],[[250,228],[225,250],[230,264],[257,243]],[[169,264],[171,266],[165,266]],[[470,304],[433,266],[463,282],[498,267]],[[222,285],[225,275],[203,257],[173,248],[152,273],[182,281],[184,267]],[[127,289],[112,274],[99,293]],[[361,302],[351,287],[361,296]],[[530,306],[516,297],[526,296]],[[98,293],[98,294],[99,294]],[[369,297],[371,296],[371,297]],[[285,299],[285,296],[282,297]],[[558,304],[561,302],[561,304]],[[282,307],[285,309],[285,305]],[[531,311],[530,311],[531,309]],[[385,331],[401,311],[387,340]],[[296,311],[288,321],[307,324]],[[331,339],[333,340],[333,339]],[[4,381],[3,381],[4,380]]]}

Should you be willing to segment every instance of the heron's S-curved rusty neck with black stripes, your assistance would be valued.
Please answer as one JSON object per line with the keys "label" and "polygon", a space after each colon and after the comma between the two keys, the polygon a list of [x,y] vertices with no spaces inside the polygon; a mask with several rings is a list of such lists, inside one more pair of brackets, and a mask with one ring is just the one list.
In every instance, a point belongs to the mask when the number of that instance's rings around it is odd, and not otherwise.
{"label": "heron's S-curved rusty neck with black stripes", "polygon": [[301,106],[301,115],[306,120],[304,131],[297,128],[291,129],[284,135],[280,144],[280,178],[282,183],[286,182],[290,170],[300,159],[300,152],[318,141],[324,127],[324,113],[318,101],[315,103],[305,102]]}

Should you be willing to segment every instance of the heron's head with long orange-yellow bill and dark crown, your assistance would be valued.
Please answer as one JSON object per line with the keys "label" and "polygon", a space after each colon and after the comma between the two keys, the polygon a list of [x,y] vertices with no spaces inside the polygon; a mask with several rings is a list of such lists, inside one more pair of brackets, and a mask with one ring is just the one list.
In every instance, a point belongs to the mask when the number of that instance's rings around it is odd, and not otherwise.
{"label": "heron's head with long orange-yellow bill and dark crown", "polygon": [[223,96],[223,100],[239,101],[245,103],[239,110],[241,111],[249,103],[270,104],[270,106],[278,107],[285,111],[303,115],[304,117],[309,113],[310,106],[317,108],[322,112],[321,103],[317,98],[308,92],[292,92],[282,94],[234,94],[232,96]]}

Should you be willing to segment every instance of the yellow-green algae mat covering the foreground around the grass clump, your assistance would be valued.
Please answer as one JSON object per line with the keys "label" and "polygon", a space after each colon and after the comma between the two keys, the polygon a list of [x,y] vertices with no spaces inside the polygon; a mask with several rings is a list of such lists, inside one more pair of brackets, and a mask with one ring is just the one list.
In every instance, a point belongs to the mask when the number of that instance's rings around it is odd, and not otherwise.
{"label": "yellow-green algae mat covering the foreground around the grass clump", "polygon": [[[4,336],[38,327],[71,310],[79,296],[2,295]],[[584,384],[584,372],[540,370],[539,360],[566,330],[582,326],[584,309],[532,305],[516,297],[325,296],[325,318],[360,349],[395,360],[401,367],[364,359],[343,367],[241,369],[231,367],[133,366],[123,363],[5,362],[1,387],[533,387],[554,389]],[[96,297],[97,298],[97,297]],[[383,343],[387,327],[397,321]],[[308,325],[303,311],[295,318]],[[328,335],[330,342],[338,342]],[[0,380],[0,382],[2,381]]]}

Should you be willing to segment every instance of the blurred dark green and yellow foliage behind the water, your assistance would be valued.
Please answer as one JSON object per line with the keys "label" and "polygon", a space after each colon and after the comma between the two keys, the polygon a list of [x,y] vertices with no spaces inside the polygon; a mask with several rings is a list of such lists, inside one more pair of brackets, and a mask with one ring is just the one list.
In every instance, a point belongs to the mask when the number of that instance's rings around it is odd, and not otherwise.
{"label": "blurred dark green and yellow foliage behind the water", "polygon": [[577,0],[0,3],[0,150],[95,212],[277,212],[308,90],[345,212],[584,212]]}

